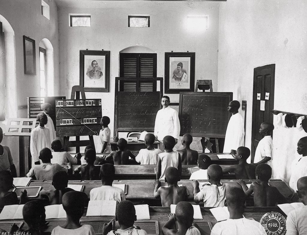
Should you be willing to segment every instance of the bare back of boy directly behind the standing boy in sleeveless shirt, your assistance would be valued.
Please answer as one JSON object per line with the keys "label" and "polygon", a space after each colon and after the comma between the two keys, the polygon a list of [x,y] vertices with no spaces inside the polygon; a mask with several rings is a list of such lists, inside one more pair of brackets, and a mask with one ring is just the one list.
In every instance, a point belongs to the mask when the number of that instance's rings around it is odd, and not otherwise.
{"label": "bare back of boy directly behind the standing boy in sleeveless shirt", "polygon": [[188,200],[187,189],[185,186],[160,187],[158,193],[161,197],[161,204],[165,207],[170,207],[171,204],[177,204],[178,202]]}

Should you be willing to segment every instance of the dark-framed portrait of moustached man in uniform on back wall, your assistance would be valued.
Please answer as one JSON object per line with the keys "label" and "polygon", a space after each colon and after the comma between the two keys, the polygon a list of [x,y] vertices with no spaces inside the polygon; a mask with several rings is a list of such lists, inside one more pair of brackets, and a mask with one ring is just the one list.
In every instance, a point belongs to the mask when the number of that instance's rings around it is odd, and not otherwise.
{"label": "dark-framed portrait of moustached man in uniform on back wall", "polygon": [[110,51],[80,50],[80,86],[84,91],[109,92]]}

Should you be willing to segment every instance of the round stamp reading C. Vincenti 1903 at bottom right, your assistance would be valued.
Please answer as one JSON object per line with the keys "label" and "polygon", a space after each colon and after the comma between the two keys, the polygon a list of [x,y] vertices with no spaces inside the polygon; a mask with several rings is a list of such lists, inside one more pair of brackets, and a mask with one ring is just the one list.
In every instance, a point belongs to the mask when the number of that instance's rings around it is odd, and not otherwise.
{"label": "round stamp reading C. Vincenti 1903 at bottom right", "polygon": [[266,230],[267,235],[285,235],[286,219],[278,212],[268,212],[260,220],[260,224]]}

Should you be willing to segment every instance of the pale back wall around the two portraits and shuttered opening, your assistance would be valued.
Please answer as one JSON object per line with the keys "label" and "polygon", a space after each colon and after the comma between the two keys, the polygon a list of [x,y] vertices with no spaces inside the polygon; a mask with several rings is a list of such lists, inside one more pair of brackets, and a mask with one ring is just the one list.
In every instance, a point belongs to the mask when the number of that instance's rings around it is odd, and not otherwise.
{"label": "pale back wall around the two portraits and shuttered opening", "polygon": [[[57,1],[60,42],[60,95],[70,97],[72,86],[79,85],[79,51],[109,50],[110,92],[86,92],[86,98],[103,100],[103,115],[109,116],[113,137],[115,77],[119,76],[119,52],[144,50],[157,53],[157,77],[164,77],[165,52],[196,52],[195,82],[212,79],[217,88],[218,2],[157,1]],[[69,5],[68,5],[69,4]],[[90,13],[91,27],[69,27],[69,13]],[[128,28],[128,14],[150,14],[150,28]],[[209,15],[209,28],[190,32],[188,15]],[[194,85],[195,87],[195,85]],[[169,95],[179,102],[179,94]]]}

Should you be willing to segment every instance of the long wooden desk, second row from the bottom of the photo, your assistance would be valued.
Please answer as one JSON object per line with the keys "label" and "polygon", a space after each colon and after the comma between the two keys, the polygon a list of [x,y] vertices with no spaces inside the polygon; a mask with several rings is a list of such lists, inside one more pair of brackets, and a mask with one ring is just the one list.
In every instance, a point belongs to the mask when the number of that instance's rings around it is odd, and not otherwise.
{"label": "long wooden desk, second row from the bottom of the photo", "polygon": [[[255,180],[245,180],[246,183],[251,183]],[[51,184],[51,180],[47,181],[41,181],[41,180],[32,180],[29,183],[29,186],[42,186],[42,189],[50,190],[54,189],[54,187]],[[207,180],[200,180],[200,182],[207,182]],[[237,180],[221,180],[222,183],[229,183],[233,187],[241,187]],[[149,206],[161,206],[161,200],[156,199],[153,196],[153,180],[115,180],[113,182],[114,184],[127,184],[128,185],[128,191],[126,195],[126,199],[134,202],[134,204],[148,204]],[[68,184],[82,184],[84,185],[84,192],[89,197],[90,191],[92,188],[100,187],[101,181],[99,180],[84,180],[84,181],[78,181],[78,180],[72,180],[69,181]],[[192,180],[181,180],[179,181],[179,184],[183,184],[188,192],[188,201],[191,203],[194,203],[194,195],[193,195],[193,186],[192,186]],[[165,182],[161,182],[162,186],[167,185]],[[292,191],[290,188],[280,179],[272,179],[270,180],[270,185],[275,186],[282,195],[285,197],[288,197],[290,194],[292,194]],[[29,200],[36,200],[36,199],[43,199],[41,197],[37,198],[31,198]],[[48,200],[46,200],[48,203]],[[254,199],[251,195],[250,198],[247,200],[248,206],[254,205]]]}

